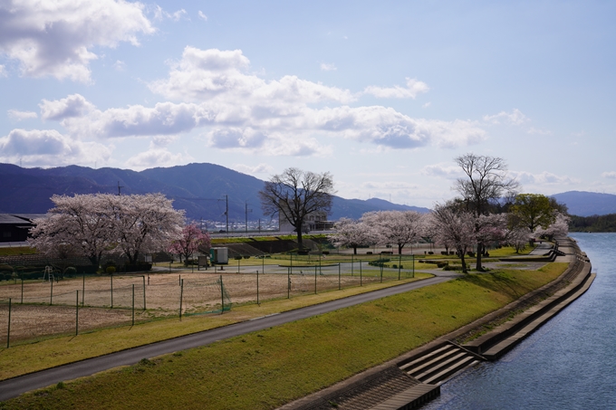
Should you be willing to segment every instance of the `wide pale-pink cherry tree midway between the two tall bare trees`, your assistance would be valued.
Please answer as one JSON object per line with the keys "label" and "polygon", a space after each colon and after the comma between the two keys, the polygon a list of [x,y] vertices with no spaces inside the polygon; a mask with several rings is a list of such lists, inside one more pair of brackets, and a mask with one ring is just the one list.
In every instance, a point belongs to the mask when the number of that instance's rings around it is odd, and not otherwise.
{"label": "wide pale-pink cherry tree midway between the two tall bare trees", "polygon": [[424,232],[422,215],[415,211],[375,211],[361,215],[361,222],[368,224],[380,236],[380,243],[395,243],[398,253],[407,243],[419,241]]}

